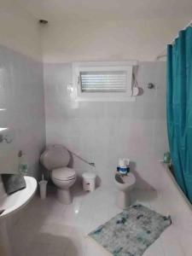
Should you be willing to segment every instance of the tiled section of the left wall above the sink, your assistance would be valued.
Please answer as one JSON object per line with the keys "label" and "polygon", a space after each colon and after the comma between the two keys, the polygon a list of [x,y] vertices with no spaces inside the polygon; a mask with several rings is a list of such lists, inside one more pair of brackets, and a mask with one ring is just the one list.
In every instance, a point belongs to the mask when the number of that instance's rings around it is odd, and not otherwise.
{"label": "tiled section of the left wall above the sink", "polygon": [[18,151],[26,153],[28,174],[39,176],[45,144],[43,64],[0,46],[0,127],[12,143],[0,143],[0,173],[18,172]]}

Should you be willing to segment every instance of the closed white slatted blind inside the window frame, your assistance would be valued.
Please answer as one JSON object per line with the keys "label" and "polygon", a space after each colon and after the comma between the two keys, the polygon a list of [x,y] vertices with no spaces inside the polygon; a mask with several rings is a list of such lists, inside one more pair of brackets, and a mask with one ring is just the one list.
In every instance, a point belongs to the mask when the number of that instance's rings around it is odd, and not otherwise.
{"label": "closed white slatted blind inside the window frame", "polygon": [[125,92],[126,71],[88,71],[79,73],[82,92]]}

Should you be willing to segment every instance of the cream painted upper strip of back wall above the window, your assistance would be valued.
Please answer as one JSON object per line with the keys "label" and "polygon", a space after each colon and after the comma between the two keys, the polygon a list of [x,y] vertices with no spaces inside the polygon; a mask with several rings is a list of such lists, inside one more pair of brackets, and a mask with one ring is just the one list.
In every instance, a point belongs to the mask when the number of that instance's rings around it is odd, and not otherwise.
{"label": "cream painted upper strip of back wall above the window", "polygon": [[189,17],[50,21],[42,30],[44,62],[154,61],[188,22]]}

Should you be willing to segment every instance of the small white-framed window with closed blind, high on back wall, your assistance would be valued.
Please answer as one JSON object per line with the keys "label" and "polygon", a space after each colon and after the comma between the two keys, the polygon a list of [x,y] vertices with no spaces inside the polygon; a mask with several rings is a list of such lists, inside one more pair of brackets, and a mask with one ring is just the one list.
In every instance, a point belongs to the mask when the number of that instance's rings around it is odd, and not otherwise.
{"label": "small white-framed window with closed blind, high on back wall", "polygon": [[137,61],[73,63],[73,88],[78,101],[135,101],[132,67]]}

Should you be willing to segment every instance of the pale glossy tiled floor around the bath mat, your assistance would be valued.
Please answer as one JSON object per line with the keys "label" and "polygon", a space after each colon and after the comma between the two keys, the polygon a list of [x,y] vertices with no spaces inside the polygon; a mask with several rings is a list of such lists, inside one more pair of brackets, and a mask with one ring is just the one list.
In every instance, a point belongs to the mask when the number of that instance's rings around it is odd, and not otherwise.
{"label": "pale glossy tiled floor around the bath mat", "polygon": [[[109,255],[86,234],[120,212],[115,195],[114,189],[105,187],[90,194],[75,192],[69,206],[56,201],[53,193],[45,201],[35,197],[10,233],[14,256]],[[155,191],[135,190],[131,197],[157,212],[168,213]],[[172,224],[143,255],[191,256],[191,243],[192,239]]]}

